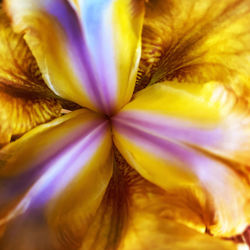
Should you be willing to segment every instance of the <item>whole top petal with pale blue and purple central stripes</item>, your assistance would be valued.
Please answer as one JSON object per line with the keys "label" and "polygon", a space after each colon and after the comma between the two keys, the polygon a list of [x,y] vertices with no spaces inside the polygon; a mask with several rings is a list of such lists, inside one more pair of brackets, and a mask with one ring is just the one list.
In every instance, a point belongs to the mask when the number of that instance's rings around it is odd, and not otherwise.
{"label": "whole top petal with pale blue and purple central stripes", "polygon": [[55,93],[107,114],[129,101],[140,58],[143,1],[5,3]]}

